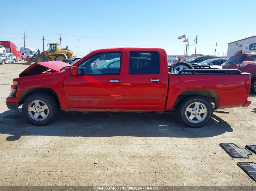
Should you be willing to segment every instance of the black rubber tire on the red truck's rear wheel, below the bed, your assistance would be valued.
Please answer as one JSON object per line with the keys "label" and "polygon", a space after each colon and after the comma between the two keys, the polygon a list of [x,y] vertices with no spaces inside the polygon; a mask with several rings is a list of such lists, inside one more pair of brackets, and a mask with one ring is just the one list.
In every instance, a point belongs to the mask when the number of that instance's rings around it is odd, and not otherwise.
{"label": "black rubber tire on the red truck's rear wheel, below the bed", "polygon": [[[193,107],[193,103],[195,102],[199,102],[201,103],[201,105],[199,106],[199,108],[194,108],[194,111],[192,110],[193,108],[191,108],[192,112],[195,112],[193,113],[194,115],[192,115],[192,113],[186,111],[186,109],[192,104],[192,107]],[[203,104],[203,105],[202,105]],[[196,106],[196,105],[194,105]],[[201,108],[200,108],[201,107]],[[203,108],[205,107],[205,108]],[[189,108],[189,109],[190,109]],[[195,110],[197,109],[197,110]],[[207,113],[199,113],[198,111],[200,111],[200,109],[206,109],[207,110]],[[202,120],[199,121],[197,119],[197,115],[199,113],[199,116],[201,116]],[[188,115],[190,116],[194,116],[193,119],[189,120],[188,118]],[[182,123],[184,123],[185,125],[189,126],[189,127],[193,127],[193,128],[198,128],[198,127],[201,127],[201,126],[204,126],[206,123],[208,123],[208,121],[211,119],[212,117],[212,106],[211,106],[211,103],[209,102],[209,100],[207,100],[205,97],[202,97],[202,96],[192,96],[192,97],[188,97],[187,99],[185,99],[180,107],[178,108],[178,117],[179,119],[181,120]],[[192,122],[194,121],[194,122]],[[196,121],[198,121],[197,123],[195,123]]]}

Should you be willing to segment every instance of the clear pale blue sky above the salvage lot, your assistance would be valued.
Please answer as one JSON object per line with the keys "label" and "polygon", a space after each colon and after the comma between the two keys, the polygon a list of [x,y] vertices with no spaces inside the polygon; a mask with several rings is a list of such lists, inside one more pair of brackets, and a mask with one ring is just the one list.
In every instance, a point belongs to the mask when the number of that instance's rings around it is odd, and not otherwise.
{"label": "clear pale blue sky above the salvage lot", "polygon": [[[5,5],[6,4],[6,5]],[[3,7],[9,7],[7,1]],[[80,40],[81,56],[90,49],[116,46],[159,47],[168,55],[183,55],[186,33],[190,44],[198,34],[197,53],[222,56],[227,43],[255,35],[256,1],[12,1],[12,11],[4,11],[0,40],[42,51],[46,43],[60,42],[76,54]],[[11,14],[12,12],[12,14]],[[189,55],[195,46],[189,46]]]}

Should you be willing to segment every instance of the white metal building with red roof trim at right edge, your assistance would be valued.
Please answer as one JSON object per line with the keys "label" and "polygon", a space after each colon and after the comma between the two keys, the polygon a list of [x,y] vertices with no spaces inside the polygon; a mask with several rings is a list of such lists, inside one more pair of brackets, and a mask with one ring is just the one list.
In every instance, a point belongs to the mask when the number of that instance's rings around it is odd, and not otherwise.
{"label": "white metal building with red roof trim at right edge", "polygon": [[256,36],[228,43],[228,58],[233,55],[251,52],[256,52]]}

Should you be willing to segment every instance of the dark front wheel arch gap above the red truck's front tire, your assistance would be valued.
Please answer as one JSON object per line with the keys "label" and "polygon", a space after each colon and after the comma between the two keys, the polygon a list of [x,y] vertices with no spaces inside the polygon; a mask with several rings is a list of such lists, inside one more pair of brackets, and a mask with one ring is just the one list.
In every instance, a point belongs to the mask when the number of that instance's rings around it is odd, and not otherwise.
{"label": "dark front wheel arch gap above the red truck's front tire", "polygon": [[21,97],[19,98],[19,106],[23,104],[24,100],[31,94],[34,93],[46,93],[51,95],[56,101],[57,105],[60,106],[60,101],[57,93],[52,88],[28,88],[22,91]]}

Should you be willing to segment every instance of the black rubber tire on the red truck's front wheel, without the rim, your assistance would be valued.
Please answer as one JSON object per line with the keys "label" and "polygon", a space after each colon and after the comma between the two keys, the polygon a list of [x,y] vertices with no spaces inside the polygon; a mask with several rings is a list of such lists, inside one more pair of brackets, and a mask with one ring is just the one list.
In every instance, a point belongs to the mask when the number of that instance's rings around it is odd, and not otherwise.
{"label": "black rubber tire on the red truck's front wheel, without the rim", "polygon": [[[43,119],[42,121],[37,121],[37,120],[33,119],[29,114],[28,106],[34,100],[43,101],[48,107],[48,109],[47,109],[48,116],[46,116],[46,118]],[[40,108],[39,108],[39,110],[40,110]],[[24,100],[23,106],[22,106],[22,112],[23,112],[23,116],[25,117],[25,119],[27,119],[30,123],[37,125],[37,126],[44,126],[44,125],[47,125],[48,123],[50,123],[52,121],[52,119],[56,118],[57,110],[58,110],[58,106],[57,106],[57,103],[54,100],[54,98],[51,95],[45,94],[45,93],[35,93],[35,94],[28,96]]]}

